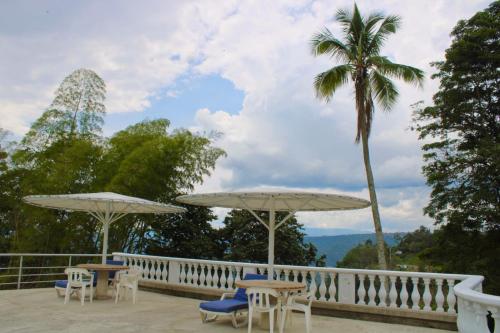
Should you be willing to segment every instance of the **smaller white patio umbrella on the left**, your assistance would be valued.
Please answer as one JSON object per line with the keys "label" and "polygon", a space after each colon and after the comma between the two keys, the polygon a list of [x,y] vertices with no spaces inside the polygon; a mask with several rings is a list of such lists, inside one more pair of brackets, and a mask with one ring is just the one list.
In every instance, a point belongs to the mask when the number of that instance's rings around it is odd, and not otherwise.
{"label": "smaller white patio umbrella on the left", "polygon": [[182,213],[185,208],[129,197],[113,192],[61,194],[61,195],[30,195],[23,200],[31,205],[62,209],[66,211],[86,212],[103,224],[104,237],[102,241],[102,263],[106,263],[108,252],[109,225],[127,214],[166,214]]}

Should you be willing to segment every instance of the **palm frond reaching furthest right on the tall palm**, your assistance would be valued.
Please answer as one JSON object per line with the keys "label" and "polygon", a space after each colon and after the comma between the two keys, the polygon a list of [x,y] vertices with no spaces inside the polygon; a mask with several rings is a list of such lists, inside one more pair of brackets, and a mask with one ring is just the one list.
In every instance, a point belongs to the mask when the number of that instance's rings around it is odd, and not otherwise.
{"label": "palm frond reaching furthest right on the tall palm", "polygon": [[383,75],[388,75],[407,83],[412,83],[418,87],[423,85],[424,71],[421,69],[394,63],[387,57],[383,56],[372,56],[368,59],[368,63],[375,66],[377,71]]}

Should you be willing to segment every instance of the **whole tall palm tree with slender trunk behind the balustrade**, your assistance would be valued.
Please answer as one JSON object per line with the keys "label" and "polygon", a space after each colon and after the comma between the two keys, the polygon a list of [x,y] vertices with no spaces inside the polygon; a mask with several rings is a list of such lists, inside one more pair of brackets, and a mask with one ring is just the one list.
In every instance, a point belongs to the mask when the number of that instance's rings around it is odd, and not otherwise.
{"label": "whole tall palm tree with slender trunk behind the balustrade", "polygon": [[421,86],[424,73],[420,69],[397,64],[380,55],[380,50],[387,37],[396,32],[401,22],[398,16],[384,16],[382,13],[371,13],[361,16],[354,4],[352,12],[339,10],[335,16],[343,29],[343,38],[337,39],[328,30],[313,36],[311,40],[314,56],[322,54],[337,59],[341,64],[320,73],[314,80],[316,96],[319,99],[331,99],[333,94],[349,80],[354,83],[357,132],[355,142],[361,141],[366,178],[372,203],[373,224],[377,237],[378,261],[381,269],[387,269],[384,251],[384,236],[375,192],[368,137],[372,125],[375,103],[389,111],[398,97],[391,78]]}

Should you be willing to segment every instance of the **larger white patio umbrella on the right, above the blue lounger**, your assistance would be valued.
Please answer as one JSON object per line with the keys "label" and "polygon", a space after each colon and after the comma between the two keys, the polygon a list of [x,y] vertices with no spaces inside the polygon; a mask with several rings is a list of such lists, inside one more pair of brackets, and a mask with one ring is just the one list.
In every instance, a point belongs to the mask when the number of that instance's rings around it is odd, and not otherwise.
{"label": "larger white patio umbrella on the right, above the blue lounger", "polygon": [[[269,230],[268,279],[273,279],[274,271],[274,233],[298,211],[333,211],[361,209],[370,202],[355,197],[310,193],[310,192],[221,192],[183,195],[177,201],[199,206],[224,207],[248,210]],[[269,211],[269,221],[263,221],[255,211]],[[289,214],[276,223],[276,212]]]}

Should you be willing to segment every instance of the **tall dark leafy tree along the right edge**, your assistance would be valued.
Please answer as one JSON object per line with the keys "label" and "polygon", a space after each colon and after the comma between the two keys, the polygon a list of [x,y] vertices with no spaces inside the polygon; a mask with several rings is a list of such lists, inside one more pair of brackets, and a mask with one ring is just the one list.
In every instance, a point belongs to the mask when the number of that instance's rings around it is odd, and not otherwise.
{"label": "tall dark leafy tree along the right edge", "polygon": [[441,228],[429,260],[445,271],[486,276],[500,292],[500,1],[459,21],[434,105],[418,107],[423,173],[432,188],[425,214]]}

